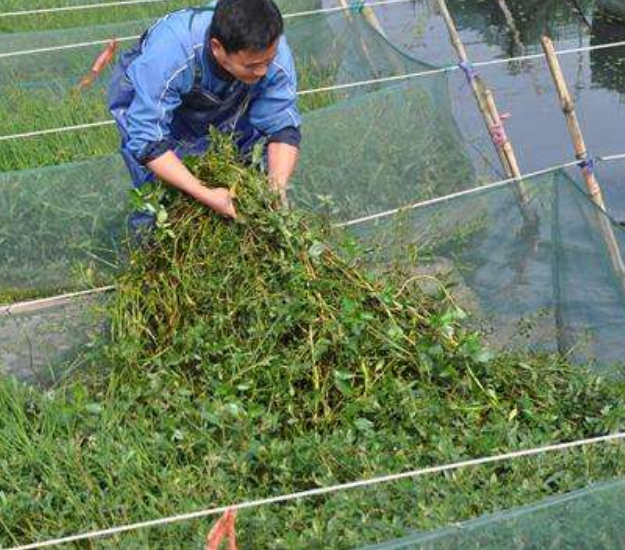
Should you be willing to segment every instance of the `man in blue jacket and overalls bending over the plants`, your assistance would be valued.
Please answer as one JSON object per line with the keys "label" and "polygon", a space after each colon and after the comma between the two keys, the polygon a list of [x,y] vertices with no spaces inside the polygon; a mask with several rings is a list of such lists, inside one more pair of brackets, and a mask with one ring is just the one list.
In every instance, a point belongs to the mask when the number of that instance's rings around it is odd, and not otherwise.
{"label": "man in blue jacket and overalls bending over the plants", "polygon": [[169,14],[124,52],[109,88],[133,184],[155,177],[214,211],[236,217],[227,189],[209,189],[181,158],[232,133],[244,155],[266,143],[266,168],[284,199],[300,143],[297,79],[272,0],[219,0]]}

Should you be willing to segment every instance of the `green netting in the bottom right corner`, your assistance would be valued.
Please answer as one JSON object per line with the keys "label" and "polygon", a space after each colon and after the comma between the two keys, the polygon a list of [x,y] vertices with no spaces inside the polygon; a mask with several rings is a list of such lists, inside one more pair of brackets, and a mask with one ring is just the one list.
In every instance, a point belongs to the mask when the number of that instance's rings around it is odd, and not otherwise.
{"label": "green netting in the bottom right corner", "polygon": [[591,485],[532,506],[416,533],[369,550],[402,548],[623,548],[625,480]]}

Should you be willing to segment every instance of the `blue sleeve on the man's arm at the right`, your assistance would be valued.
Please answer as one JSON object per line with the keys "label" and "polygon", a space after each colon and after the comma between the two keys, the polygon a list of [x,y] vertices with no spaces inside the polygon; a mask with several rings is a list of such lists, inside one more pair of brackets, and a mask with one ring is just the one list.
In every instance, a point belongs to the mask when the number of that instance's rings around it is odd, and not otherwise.
{"label": "blue sleeve on the man's arm at the right", "polygon": [[[293,56],[284,38],[258,96],[250,105],[250,123],[270,141],[280,141],[278,136],[296,135],[299,145],[301,116],[297,108],[297,76]],[[287,128],[292,128],[295,133],[284,133]],[[278,139],[272,139],[273,136]]]}

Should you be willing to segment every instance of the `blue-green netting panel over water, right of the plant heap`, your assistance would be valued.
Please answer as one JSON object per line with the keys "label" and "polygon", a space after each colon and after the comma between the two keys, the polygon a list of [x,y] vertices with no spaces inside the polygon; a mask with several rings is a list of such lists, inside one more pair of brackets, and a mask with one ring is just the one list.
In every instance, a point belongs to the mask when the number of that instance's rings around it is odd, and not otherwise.
{"label": "blue-green netting panel over water, right of the plant heap", "polygon": [[[355,227],[361,238],[407,263],[415,276],[442,276],[505,349],[574,353],[583,362],[622,362],[623,277],[606,235],[625,250],[623,230],[564,172],[524,182],[538,231],[528,230],[511,186]],[[431,268],[423,267],[431,264]]]}

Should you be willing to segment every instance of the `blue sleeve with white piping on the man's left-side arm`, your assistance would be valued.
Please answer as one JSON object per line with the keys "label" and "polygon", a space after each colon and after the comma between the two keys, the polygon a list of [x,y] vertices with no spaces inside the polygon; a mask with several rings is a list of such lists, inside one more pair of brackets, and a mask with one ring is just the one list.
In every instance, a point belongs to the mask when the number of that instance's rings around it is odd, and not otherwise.
{"label": "blue sleeve with white piping on the man's left-side arm", "polygon": [[135,96],[126,113],[127,148],[141,163],[172,148],[171,122],[191,89],[195,54],[167,26],[153,32],[128,67]]}

